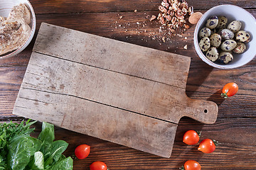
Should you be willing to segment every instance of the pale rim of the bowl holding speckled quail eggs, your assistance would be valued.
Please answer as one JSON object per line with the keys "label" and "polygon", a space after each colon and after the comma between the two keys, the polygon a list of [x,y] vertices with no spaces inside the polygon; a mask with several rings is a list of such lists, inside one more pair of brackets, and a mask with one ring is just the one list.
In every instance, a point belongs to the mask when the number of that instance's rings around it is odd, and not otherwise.
{"label": "pale rim of the bowl holding speckled quail eggs", "polygon": [[[246,11],[244,8],[240,7],[240,6],[235,6],[235,5],[231,5],[231,4],[222,4],[222,5],[218,5],[218,6],[214,6],[213,8],[210,8],[208,11],[206,11],[205,13],[203,13],[203,16],[210,12],[210,11],[213,11],[215,10],[215,8],[219,8],[221,6],[234,6],[235,8],[240,8],[240,10],[244,11],[245,13],[249,14],[252,19],[255,21],[255,24],[256,24],[256,19],[254,16],[252,16],[252,13]],[[201,21],[203,21],[203,16],[199,19],[198,23],[200,23]],[[248,62],[252,61],[255,57],[256,57],[256,54],[254,57],[252,57],[250,60],[247,60],[247,62],[245,62],[244,64],[238,64],[236,66],[230,66],[230,65],[220,65],[220,64],[215,64],[214,62],[211,62],[210,60],[208,60],[208,58],[206,57],[206,55],[203,54],[203,52],[200,50],[200,47],[199,47],[199,43],[198,43],[198,31],[199,31],[199,24],[196,24],[196,28],[194,30],[194,46],[195,46],[195,50],[196,50],[196,53],[198,54],[198,57],[201,58],[201,60],[203,60],[203,62],[206,62],[206,64],[212,66],[212,67],[215,67],[215,68],[218,68],[218,69],[235,69],[235,68],[238,68],[238,67],[242,67],[243,65],[247,64]],[[199,54],[200,53],[200,54]],[[228,66],[228,67],[227,67]]]}

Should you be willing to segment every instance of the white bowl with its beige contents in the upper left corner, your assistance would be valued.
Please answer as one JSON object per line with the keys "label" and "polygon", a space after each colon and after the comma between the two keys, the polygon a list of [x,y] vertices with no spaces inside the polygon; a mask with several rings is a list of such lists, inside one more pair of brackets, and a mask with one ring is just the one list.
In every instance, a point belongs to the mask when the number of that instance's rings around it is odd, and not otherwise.
{"label": "white bowl with its beige contents in the upper left corner", "polygon": [[0,59],[24,50],[35,31],[36,16],[29,1],[0,0]]}

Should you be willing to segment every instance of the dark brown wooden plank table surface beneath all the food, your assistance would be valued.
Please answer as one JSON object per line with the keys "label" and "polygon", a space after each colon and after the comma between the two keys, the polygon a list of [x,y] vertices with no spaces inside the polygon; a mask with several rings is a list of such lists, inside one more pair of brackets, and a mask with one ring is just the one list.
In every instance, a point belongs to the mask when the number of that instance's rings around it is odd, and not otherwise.
{"label": "dark brown wooden plank table surface beneath all the food", "polygon": [[[196,26],[191,26],[182,36],[163,42],[158,33],[161,25],[149,21],[151,15],[158,15],[160,3],[159,0],[31,0],[37,19],[36,34],[31,44],[19,55],[0,60],[0,121],[24,119],[13,115],[12,111],[38,28],[46,22],[191,57],[186,94],[190,98],[214,101],[219,108],[218,119],[213,125],[181,118],[169,159],[56,127],[56,139],[70,144],[66,156],[72,155],[80,144],[91,146],[87,159],[74,160],[75,170],[89,169],[95,161],[105,162],[110,169],[178,169],[188,159],[200,162],[203,169],[256,169],[256,58],[238,69],[222,70],[208,66],[193,47]],[[255,0],[188,0],[188,4],[194,7],[194,11],[202,13],[213,6],[233,4],[256,17]],[[183,49],[185,45],[188,50]],[[233,81],[240,88],[238,94],[223,100],[220,90]],[[203,154],[196,149],[196,145],[185,145],[182,137],[190,129],[201,130],[202,139],[218,140],[215,152]],[[36,123],[34,135],[40,131],[41,123]]]}

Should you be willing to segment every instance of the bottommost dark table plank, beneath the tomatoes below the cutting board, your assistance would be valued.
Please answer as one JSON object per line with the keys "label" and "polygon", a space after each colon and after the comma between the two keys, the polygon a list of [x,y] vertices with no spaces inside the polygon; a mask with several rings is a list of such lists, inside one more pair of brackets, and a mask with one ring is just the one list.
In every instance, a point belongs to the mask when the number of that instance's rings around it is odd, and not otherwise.
{"label": "bottommost dark table plank, beneath the tomatoes below the cutting board", "polygon": [[[202,131],[201,140],[218,140],[220,144],[215,152],[203,154],[197,150],[197,145],[188,146],[182,142],[184,132],[191,127]],[[34,136],[41,130],[41,123],[36,123],[36,130]],[[56,139],[64,139],[70,143],[65,152],[66,156],[72,155],[75,147],[85,142],[91,146],[87,159],[74,160],[75,170],[89,169],[87,167],[95,160],[105,162],[110,169],[178,169],[188,159],[200,162],[203,169],[254,169],[255,132],[256,124],[253,119],[218,119],[214,125],[203,125],[191,119],[181,118],[172,156],[165,159],[95,137],[55,128]]]}

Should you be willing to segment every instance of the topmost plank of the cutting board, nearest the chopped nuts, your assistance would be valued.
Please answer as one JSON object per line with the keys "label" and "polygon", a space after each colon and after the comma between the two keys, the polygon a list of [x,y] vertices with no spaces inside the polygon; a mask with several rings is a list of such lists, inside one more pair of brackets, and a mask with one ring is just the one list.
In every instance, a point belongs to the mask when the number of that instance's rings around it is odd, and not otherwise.
{"label": "topmost plank of the cutting board, nearest the chopped nuts", "polygon": [[42,23],[33,51],[182,89],[186,89],[191,62],[190,57],[47,23]]}

